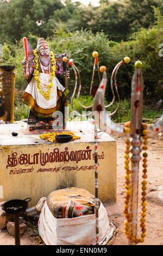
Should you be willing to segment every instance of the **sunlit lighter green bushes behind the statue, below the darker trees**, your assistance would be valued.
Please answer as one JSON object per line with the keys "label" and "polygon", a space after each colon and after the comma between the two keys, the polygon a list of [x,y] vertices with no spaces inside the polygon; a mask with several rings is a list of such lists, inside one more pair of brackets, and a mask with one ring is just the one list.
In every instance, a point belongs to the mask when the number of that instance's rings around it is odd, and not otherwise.
{"label": "sunlit lighter green bushes behind the statue, below the darker trees", "polygon": [[[118,90],[121,99],[130,97],[131,78],[134,73],[134,62],[140,59],[143,62],[143,77],[145,81],[145,100],[148,102],[163,98],[163,80],[162,70],[163,58],[159,57],[159,45],[163,42],[163,17],[159,10],[155,9],[156,25],[151,29],[141,29],[140,32],[133,34],[133,38],[127,42],[112,42],[101,32],[94,35],[91,31],[68,31],[65,25],[59,23],[55,27],[51,38],[47,38],[49,47],[54,53],[67,52],[69,58],[73,59],[74,64],[80,71],[82,79],[82,95],[88,95],[94,58],[93,51],[99,53],[99,65],[107,67],[108,84],[110,83],[111,72],[115,65],[129,56],[131,62],[123,64],[117,74]],[[36,47],[37,36],[30,35],[28,40]],[[24,90],[27,86],[22,74],[21,60],[23,59],[22,41],[16,45],[4,44],[3,64],[12,64],[16,66],[15,86],[18,90]],[[98,85],[98,74],[96,72],[93,85]],[[74,87],[74,73],[70,67],[70,95]],[[158,96],[159,95],[159,96]],[[110,86],[106,88],[106,100],[112,98]],[[150,103],[150,101],[149,101]]]}

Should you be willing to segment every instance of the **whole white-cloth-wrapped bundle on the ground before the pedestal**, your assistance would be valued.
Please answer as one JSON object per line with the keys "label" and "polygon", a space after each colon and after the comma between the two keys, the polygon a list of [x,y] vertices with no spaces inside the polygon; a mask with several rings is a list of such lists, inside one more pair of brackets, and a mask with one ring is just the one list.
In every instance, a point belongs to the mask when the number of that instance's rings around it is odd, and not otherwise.
{"label": "whole white-cloth-wrapped bundle on the ground before the pedestal", "polygon": [[[43,203],[38,222],[42,240],[46,245],[95,245],[94,205],[95,197],[81,188],[65,188],[49,194]],[[75,206],[77,211],[74,211]],[[117,228],[109,222],[101,202],[98,214],[99,245],[109,245],[115,239]]]}

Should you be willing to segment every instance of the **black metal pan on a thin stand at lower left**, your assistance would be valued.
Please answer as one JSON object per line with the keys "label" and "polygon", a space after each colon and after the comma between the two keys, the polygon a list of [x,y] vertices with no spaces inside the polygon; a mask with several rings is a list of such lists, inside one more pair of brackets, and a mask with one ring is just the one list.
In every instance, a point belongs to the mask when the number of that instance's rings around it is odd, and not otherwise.
{"label": "black metal pan on a thin stand at lower left", "polygon": [[[28,199],[28,200],[27,200]],[[28,202],[30,202],[31,198],[28,197],[24,200],[10,200],[3,205],[3,210],[7,214],[14,215],[14,223],[15,223],[15,245],[20,245],[20,223],[19,216],[22,214],[28,207]]]}

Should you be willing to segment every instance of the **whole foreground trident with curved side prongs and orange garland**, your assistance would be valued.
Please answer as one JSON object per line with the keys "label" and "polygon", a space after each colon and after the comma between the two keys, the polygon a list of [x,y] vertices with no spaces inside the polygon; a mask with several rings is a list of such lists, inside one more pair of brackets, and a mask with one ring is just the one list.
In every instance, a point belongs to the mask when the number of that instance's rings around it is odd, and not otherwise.
{"label": "whole foreground trident with curved side prongs and orange garland", "polygon": [[[125,166],[126,169],[126,198],[124,200],[124,216],[127,221],[124,223],[124,233],[129,239],[129,245],[136,245],[145,241],[146,236],[146,190],[147,190],[147,144],[148,137],[151,137],[159,132],[163,131],[163,114],[160,119],[153,125],[148,126],[142,124],[142,107],[143,107],[143,76],[141,72],[142,63],[137,61],[135,63],[135,73],[131,82],[131,117],[130,121],[124,124],[124,127],[115,124],[111,121],[111,133],[115,136],[129,136],[130,139],[126,139],[125,150]],[[99,103],[103,102],[102,112],[105,112],[104,106],[104,93],[106,88],[106,74],[103,74],[104,79],[104,92],[101,89],[97,90],[95,100],[93,102],[93,108],[96,109]],[[106,125],[106,132],[109,133],[108,127],[110,127],[108,115],[105,118],[105,114],[99,114],[95,119],[97,122],[99,117],[101,125]],[[142,174],[142,198],[141,206],[142,212],[140,217],[141,236],[137,237],[137,207],[138,207],[138,188],[139,188],[139,163],[141,160],[140,153],[143,150],[143,174]],[[131,155],[131,156],[130,156]],[[131,162],[131,166],[129,163]]]}

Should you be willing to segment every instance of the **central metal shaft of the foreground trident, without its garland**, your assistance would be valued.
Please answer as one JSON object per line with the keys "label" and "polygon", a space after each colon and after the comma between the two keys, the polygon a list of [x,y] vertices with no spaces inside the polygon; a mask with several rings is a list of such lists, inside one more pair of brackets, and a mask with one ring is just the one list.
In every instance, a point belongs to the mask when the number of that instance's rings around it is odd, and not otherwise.
{"label": "central metal shaft of the foreground trident, without its garland", "polygon": [[130,136],[131,136],[131,201],[130,214],[132,230],[129,245],[138,242],[137,240],[137,206],[139,199],[139,162],[141,160],[141,127],[142,127],[142,106],[143,106],[143,77],[141,64],[136,66],[135,74],[131,82],[131,116],[130,116]]}

